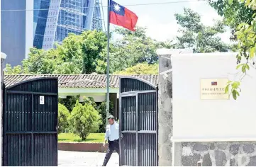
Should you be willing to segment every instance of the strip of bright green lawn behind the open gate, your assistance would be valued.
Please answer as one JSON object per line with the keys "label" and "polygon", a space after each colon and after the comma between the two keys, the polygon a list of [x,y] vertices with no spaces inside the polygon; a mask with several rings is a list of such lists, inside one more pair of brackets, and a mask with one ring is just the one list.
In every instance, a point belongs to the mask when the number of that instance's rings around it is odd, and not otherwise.
{"label": "strip of bright green lawn behind the open gate", "polygon": [[82,141],[77,135],[72,133],[61,133],[58,136],[58,142],[87,142],[102,143],[104,142],[104,133],[91,133],[85,141]]}

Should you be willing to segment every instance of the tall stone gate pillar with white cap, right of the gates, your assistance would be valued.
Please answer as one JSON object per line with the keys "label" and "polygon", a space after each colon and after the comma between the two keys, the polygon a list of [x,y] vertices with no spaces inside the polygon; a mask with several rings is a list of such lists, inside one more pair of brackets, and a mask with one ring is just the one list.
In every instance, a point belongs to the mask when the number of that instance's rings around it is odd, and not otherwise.
{"label": "tall stone gate pillar with white cap, right of the gates", "polygon": [[191,53],[193,50],[157,50],[159,57],[158,79],[158,165],[172,166],[172,54]]}

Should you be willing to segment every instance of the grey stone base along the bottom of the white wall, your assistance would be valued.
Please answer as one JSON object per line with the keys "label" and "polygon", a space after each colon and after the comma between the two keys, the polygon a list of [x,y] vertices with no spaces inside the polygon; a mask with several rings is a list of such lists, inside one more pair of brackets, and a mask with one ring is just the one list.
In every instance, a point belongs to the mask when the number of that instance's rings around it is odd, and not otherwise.
{"label": "grey stone base along the bottom of the white wall", "polygon": [[256,142],[182,142],[175,150],[175,166],[256,166]]}

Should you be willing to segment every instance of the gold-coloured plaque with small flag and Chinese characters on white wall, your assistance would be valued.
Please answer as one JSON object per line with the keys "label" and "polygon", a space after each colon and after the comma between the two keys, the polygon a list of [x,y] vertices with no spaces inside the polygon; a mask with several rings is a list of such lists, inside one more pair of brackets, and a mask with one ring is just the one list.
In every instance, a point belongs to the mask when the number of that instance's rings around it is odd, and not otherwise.
{"label": "gold-coloured plaque with small flag and Chinese characters on white wall", "polygon": [[228,79],[201,79],[201,100],[228,100]]}

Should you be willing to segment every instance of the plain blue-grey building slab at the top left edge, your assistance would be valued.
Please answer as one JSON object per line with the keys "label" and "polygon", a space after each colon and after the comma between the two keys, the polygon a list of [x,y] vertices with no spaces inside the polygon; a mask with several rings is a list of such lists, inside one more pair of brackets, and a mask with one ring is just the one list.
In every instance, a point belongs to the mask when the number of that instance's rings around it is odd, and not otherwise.
{"label": "plain blue-grey building slab at the top left edge", "polygon": [[20,65],[33,47],[33,0],[1,0],[1,52],[4,64]]}

